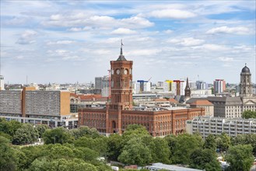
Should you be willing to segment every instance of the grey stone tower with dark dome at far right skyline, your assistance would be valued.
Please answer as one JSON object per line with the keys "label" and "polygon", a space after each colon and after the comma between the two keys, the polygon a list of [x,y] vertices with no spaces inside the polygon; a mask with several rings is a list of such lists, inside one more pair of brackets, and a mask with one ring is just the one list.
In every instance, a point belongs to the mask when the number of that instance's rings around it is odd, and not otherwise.
{"label": "grey stone tower with dark dome at far right skyline", "polygon": [[240,73],[240,96],[252,96],[251,72],[246,64]]}

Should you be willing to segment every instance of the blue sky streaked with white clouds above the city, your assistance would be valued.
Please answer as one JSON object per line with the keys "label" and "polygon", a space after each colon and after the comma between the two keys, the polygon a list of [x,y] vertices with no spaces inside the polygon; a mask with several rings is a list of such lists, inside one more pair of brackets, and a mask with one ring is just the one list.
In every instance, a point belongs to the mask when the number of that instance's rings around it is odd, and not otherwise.
{"label": "blue sky streaked with white clouds above the city", "polygon": [[120,54],[133,79],[255,82],[255,1],[1,0],[5,82],[94,82]]}

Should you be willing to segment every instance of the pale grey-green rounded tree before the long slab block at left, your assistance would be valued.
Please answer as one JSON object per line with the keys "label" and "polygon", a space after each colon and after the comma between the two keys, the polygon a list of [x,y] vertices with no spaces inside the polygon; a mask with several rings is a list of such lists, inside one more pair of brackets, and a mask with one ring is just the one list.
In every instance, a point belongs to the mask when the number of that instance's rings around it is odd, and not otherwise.
{"label": "pale grey-green rounded tree before the long slab block at left", "polygon": [[24,145],[37,141],[39,134],[32,124],[23,124],[13,136],[13,144]]}

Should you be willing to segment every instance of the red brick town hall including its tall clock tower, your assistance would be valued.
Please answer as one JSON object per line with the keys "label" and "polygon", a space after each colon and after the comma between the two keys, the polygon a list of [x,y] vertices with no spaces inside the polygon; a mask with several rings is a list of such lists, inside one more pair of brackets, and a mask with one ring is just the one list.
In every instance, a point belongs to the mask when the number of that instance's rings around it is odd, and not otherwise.
{"label": "red brick town hall including its tall clock tower", "polygon": [[122,134],[128,124],[142,124],[149,134],[156,137],[181,134],[184,132],[186,120],[205,115],[203,108],[135,108],[132,103],[132,65],[133,61],[124,58],[121,47],[119,58],[110,61],[110,102],[106,104],[106,108],[80,109],[79,125],[95,127],[103,134]]}

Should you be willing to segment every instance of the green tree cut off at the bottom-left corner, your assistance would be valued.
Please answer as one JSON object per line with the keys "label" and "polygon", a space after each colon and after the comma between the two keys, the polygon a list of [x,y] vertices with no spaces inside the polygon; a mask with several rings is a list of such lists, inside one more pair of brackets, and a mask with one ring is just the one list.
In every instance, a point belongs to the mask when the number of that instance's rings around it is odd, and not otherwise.
{"label": "green tree cut off at the bottom-left corner", "polygon": [[0,136],[0,170],[16,170],[16,158],[9,139]]}

